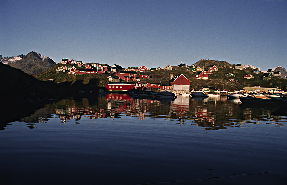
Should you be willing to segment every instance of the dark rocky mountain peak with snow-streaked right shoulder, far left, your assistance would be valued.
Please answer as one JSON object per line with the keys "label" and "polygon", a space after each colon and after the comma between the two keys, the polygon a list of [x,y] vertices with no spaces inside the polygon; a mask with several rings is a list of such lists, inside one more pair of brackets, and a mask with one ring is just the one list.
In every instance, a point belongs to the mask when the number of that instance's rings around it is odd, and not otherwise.
{"label": "dark rocky mountain peak with snow-streaked right shoulder, far left", "polygon": [[34,51],[10,64],[11,67],[21,69],[27,74],[41,74],[54,65],[56,63],[52,59]]}

